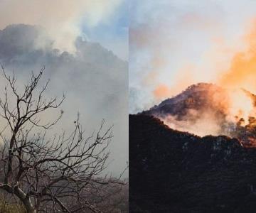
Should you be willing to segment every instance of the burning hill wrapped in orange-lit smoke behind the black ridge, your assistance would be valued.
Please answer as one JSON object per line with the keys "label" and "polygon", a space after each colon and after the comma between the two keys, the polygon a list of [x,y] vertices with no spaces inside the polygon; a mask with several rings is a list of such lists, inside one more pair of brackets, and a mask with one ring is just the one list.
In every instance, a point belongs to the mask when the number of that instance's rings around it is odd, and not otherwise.
{"label": "burning hill wrapped in orange-lit smoke behind the black ridge", "polygon": [[245,89],[193,84],[143,113],[173,129],[198,136],[225,135],[238,138],[242,146],[256,147],[256,96]]}

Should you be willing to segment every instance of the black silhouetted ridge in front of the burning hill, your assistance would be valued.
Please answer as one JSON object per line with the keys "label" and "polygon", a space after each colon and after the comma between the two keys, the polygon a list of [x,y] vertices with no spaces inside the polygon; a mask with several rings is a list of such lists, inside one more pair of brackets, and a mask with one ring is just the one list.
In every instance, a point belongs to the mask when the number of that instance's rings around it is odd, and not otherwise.
{"label": "black silhouetted ridge in front of the burning hill", "polygon": [[129,212],[256,212],[256,149],[129,116]]}

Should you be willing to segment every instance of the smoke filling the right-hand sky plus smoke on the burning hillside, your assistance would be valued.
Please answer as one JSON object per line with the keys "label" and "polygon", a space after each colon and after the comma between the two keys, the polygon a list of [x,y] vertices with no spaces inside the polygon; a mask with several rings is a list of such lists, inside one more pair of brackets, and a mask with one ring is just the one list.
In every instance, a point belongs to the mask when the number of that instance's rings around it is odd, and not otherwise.
{"label": "smoke filling the right-hand sky plus smoke on the burning hillside", "polygon": [[174,129],[201,136],[232,136],[237,124],[250,126],[255,101],[241,88],[256,94],[255,4],[132,1],[130,112],[149,109],[192,84],[207,82],[226,91],[203,95],[206,106],[192,108],[182,118],[156,116]]}

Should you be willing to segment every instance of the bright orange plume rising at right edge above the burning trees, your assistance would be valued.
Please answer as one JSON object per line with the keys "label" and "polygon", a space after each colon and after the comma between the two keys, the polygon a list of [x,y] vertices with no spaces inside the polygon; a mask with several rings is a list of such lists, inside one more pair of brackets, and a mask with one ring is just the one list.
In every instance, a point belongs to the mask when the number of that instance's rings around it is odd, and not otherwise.
{"label": "bright orange plume rising at right edge above the burning trees", "polygon": [[[249,33],[244,35],[247,44],[245,50],[233,54],[230,67],[223,72],[219,84],[229,89],[231,121],[240,122],[241,126],[249,124],[251,116],[255,116],[255,105],[252,98],[242,91],[243,88],[256,93],[256,18],[251,21]],[[234,120],[235,117],[235,120]]]}

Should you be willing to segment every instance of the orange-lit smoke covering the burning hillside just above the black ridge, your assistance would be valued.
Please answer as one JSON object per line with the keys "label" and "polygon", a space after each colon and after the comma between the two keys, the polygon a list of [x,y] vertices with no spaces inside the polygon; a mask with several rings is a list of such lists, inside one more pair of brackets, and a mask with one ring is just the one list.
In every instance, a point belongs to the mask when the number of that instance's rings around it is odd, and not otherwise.
{"label": "orange-lit smoke covering the burning hillside just above the black ridge", "polygon": [[[245,89],[220,87],[206,87],[206,89],[208,89],[207,97],[202,97],[202,100],[208,104],[198,104],[196,106],[201,107],[193,108],[194,103],[187,102],[186,115],[179,118],[176,115],[166,114],[160,115],[159,119],[172,129],[188,131],[198,136],[239,136],[241,140],[247,140],[247,136],[240,134],[242,132],[238,129],[242,127],[242,131],[247,133],[247,130],[253,130],[256,126],[255,96]],[[251,140],[249,142],[251,143]]]}

